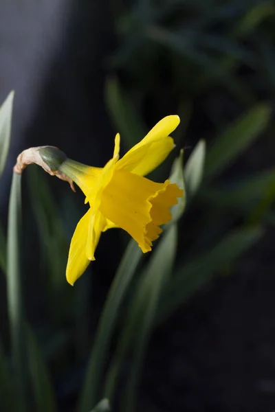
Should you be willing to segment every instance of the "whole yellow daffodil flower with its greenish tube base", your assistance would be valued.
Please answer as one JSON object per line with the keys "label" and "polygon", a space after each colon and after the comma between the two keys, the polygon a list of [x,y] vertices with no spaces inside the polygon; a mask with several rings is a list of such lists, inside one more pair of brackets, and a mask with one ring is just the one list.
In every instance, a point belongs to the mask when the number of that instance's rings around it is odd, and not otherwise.
{"label": "whole yellow daffodil flower with its greenish tube base", "polygon": [[121,227],[136,240],[142,252],[151,251],[160,225],[171,219],[169,208],[183,191],[176,184],[155,183],[144,175],[166,159],[175,147],[169,136],[179,124],[177,115],[164,117],[119,159],[120,135],[115,136],[113,158],[104,168],[94,168],[67,159],[59,170],[69,176],[86,196],[89,210],[80,219],[69,248],[67,281],[74,284],[87,268],[103,231]]}

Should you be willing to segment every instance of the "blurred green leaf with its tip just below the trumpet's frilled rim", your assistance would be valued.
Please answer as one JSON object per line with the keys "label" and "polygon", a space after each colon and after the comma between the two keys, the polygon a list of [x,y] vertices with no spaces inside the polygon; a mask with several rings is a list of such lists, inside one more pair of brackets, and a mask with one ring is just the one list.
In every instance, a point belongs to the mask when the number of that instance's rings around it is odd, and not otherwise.
{"label": "blurred green leaf with its tip just below the trumpet's frilled rim", "polygon": [[[177,227],[171,226],[162,236],[157,249],[150,259],[144,276],[137,285],[133,305],[124,329],[130,328],[135,339],[133,345],[133,365],[131,375],[126,384],[124,412],[134,412],[137,408],[137,387],[144,360],[146,347],[151,336],[159,295],[173,269],[177,249]],[[126,331],[126,334],[128,332]],[[128,350],[130,347],[128,347]],[[122,361],[122,360],[121,360]],[[120,364],[122,363],[120,361]]]}

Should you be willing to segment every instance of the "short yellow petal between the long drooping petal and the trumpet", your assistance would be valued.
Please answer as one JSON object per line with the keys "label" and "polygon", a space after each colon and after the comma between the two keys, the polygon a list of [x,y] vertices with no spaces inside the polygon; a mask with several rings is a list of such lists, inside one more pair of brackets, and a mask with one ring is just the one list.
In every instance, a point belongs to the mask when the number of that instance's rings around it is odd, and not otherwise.
{"label": "short yellow petal between the long drooping petal and the trumpet", "polygon": [[94,253],[96,251],[96,247],[98,246],[101,232],[105,226],[106,219],[102,216],[100,211],[96,211],[96,213],[91,215],[86,243],[86,256],[89,260],[96,260]]}

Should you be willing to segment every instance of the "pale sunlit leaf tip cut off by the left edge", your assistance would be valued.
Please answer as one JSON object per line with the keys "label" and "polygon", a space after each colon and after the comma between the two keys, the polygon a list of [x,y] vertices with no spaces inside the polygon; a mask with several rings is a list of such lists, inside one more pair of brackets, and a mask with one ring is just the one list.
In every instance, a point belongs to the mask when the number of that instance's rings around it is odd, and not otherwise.
{"label": "pale sunlit leaf tip cut off by the left edge", "polygon": [[5,168],[5,162],[10,148],[10,131],[12,127],[12,104],[14,91],[11,91],[0,107],[0,178]]}

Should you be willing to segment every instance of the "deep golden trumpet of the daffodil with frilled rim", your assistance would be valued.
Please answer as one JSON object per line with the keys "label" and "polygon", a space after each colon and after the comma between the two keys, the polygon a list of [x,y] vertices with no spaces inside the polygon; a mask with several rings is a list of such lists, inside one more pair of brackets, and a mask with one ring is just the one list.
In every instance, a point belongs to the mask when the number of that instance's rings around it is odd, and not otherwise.
{"label": "deep golden trumpet of the daffodil with frilled rim", "polygon": [[[118,170],[102,192],[100,211],[127,231],[145,253],[151,250],[152,240],[161,233],[159,225],[170,220],[169,207],[175,205],[181,195],[177,185],[170,185],[169,181],[155,183]],[[157,200],[159,196],[160,201]]]}

